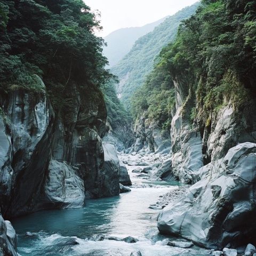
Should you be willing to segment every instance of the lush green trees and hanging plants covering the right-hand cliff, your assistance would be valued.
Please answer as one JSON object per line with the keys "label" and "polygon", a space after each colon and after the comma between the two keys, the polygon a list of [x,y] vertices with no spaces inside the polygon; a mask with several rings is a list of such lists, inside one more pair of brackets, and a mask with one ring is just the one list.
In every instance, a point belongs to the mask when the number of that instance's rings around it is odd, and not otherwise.
{"label": "lush green trees and hanging plants covering the right-hand cliff", "polygon": [[[187,120],[211,122],[211,113],[232,102],[237,113],[256,94],[256,2],[203,0],[196,14],[182,22],[175,41],[162,51],[161,59],[141,90],[133,96],[133,114],[140,109],[165,106],[160,113],[171,111],[156,70],[165,71],[165,79],[181,84],[183,114]],[[163,73],[164,74],[164,73]],[[158,98],[156,103],[150,99]],[[158,118],[156,116],[156,118]]]}

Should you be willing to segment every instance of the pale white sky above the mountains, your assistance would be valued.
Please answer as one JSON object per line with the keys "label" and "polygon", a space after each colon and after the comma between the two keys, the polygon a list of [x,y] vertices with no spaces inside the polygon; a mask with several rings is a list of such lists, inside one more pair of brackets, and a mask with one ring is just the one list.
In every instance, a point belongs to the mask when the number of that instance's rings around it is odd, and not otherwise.
{"label": "pale white sky above the mountains", "polygon": [[84,0],[93,11],[101,13],[103,30],[96,32],[105,37],[114,30],[141,27],[172,15],[198,0]]}

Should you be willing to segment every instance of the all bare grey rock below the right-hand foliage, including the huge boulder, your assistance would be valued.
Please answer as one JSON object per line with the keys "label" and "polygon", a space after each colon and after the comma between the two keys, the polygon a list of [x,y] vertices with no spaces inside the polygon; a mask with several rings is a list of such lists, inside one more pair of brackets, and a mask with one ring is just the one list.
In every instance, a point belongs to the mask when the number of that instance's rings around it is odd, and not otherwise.
{"label": "all bare grey rock below the right-hand foliage, including the huge boulder", "polygon": [[193,106],[200,111],[191,87],[178,79],[174,85],[171,169],[194,185],[159,214],[158,229],[210,249],[255,243],[255,101],[239,110],[223,102],[202,123],[190,117]]}

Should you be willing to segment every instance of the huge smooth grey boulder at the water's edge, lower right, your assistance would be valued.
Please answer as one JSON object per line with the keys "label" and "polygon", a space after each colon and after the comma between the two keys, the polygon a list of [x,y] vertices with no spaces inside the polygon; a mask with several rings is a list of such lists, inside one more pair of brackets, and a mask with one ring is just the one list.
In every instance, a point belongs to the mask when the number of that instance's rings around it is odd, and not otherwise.
{"label": "huge smooth grey boulder at the water's edge, lower right", "polygon": [[246,142],[199,170],[201,180],[159,214],[158,229],[210,249],[255,243],[256,144]]}

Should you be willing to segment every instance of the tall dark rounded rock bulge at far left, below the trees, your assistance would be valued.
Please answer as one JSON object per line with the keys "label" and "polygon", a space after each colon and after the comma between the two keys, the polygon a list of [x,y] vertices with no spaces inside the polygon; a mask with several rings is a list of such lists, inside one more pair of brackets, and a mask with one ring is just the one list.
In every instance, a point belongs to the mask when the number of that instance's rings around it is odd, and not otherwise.
{"label": "tall dark rounded rock bulge at far left, below the trees", "polygon": [[13,217],[31,212],[41,197],[50,160],[53,113],[43,94],[14,91],[0,101],[8,119],[0,133],[6,134],[5,148],[10,152],[8,158],[0,156],[5,161],[0,166],[4,173],[0,203],[3,215]]}

